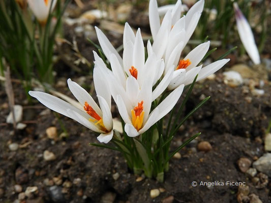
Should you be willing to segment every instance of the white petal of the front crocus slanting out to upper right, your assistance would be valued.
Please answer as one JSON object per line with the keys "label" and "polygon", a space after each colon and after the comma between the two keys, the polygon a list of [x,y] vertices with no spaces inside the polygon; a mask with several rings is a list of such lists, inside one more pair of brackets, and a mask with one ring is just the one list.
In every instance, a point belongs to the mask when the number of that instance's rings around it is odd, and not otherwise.
{"label": "white petal of the front crocus slanting out to upper right", "polygon": [[159,115],[156,116],[154,123],[163,118],[170,112],[177,103],[180,95],[182,95],[185,85],[180,85],[174,89],[156,108],[159,109]]}

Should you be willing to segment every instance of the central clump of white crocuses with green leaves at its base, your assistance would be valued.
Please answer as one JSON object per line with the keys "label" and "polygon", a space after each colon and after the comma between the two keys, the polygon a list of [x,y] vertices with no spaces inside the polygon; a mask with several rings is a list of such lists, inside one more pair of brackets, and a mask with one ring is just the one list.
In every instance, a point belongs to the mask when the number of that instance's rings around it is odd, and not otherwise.
{"label": "central clump of white crocuses with green leaves at its base", "polygon": [[[172,139],[166,135],[159,140],[160,135],[163,136],[163,130],[160,130],[163,122],[160,120],[173,109],[184,87],[191,84],[196,76],[197,81],[202,80],[229,61],[222,59],[204,67],[199,65],[208,51],[209,42],[198,45],[188,55],[182,56],[201,16],[203,5],[204,0],[200,0],[181,17],[182,3],[178,0],[172,9],[168,9],[160,23],[157,2],[150,0],[149,24],[153,43],[147,41],[145,49],[140,29],[135,34],[126,23],[123,56],[116,51],[104,33],[95,27],[103,54],[110,66],[109,69],[108,64],[94,51],[93,77],[100,107],[91,95],[71,79],[68,79],[68,86],[81,104],[81,109],[44,92],[30,91],[29,94],[46,107],[99,132],[100,142],[108,143],[113,139],[116,149],[124,153],[130,167],[142,168],[148,177],[152,174],[159,176],[167,167],[170,158],[167,155],[168,143]],[[111,97],[124,121],[124,137],[113,130]],[[160,134],[155,139],[156,131]],[[148,136],[151,136],[150,139]],[[137,138],[131,141],[129,137]],[[165,141],[164,144],[162,141]],[[157,152],[152,153],[150,148]],[[156,159],[162,148],[167,152],[159,155],[160,159],[164,157],[163,161],[159,160],[160,163]],[[134,154],[135,149],[138,153]],[[142,159],[141,165],[133,160],[138,155]]]}

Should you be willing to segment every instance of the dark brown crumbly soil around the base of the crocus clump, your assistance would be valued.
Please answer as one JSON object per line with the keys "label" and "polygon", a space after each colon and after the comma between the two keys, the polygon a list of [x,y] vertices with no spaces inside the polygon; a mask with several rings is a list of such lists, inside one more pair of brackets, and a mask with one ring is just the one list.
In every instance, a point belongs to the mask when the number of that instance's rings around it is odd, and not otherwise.
{"label": "dark brown crumbly soil around the base of the crocus clump", "polygon": [[[270,91],[270,86],[265,88],[266,92]],[[14,89],[15,94],[19,95],[16,103],[23,105],[21,101],[24,97],[22,92],[19,93],[22,90],[18,85]],[[6,103],[3,88],[0,94],[1,104]],[[89,146],[88,143],[97,142],[96,135],[69,118],[60,116],[59,120],[52,112],[39,115],[46,108],[36,101],[34,106],[23,105],[24,121],[29,124],[14,134],[12,126],[5,124],[9,111],[2,109],[0,188],[4,193],[1,201],[17,199],[14,185],[20,184],[23,191],[29,186],[38,187],[38,193],[26,202],[101,202],[103,195],[109,194],[115,196],[114,202],[161,202],[170,195],[174,197],[173,202],[237,202],[237,186],[191,186],[192,181],[198,184],[201,181],[232,181],[246,182],[251,193],[258,195],[262,202],[271,202],[267,189],[270,185],[257,189],[251,179],[240,172],[236,163],[240,157],[254,160],[255,156],[260,157],[264,153],[259,140],[267,127],[266,118],[270,117],[270,95],[253,97],[252,102],[248,103],[240,99],[245,96],[242,87],[230,88],[223,82],[205,81],[195,86],[186,111],[199,102],[201,94],[211,95],[212,98],[176,134],[172,149],[195,132],[201,131],[202,134],[180,151],[182,158],[170,161],[164,183],[145,178],[136,182],[138,177],[128,170],[121,154]],[[243,117],[246,119],[240,119]],[[60,134],[61,122],[68,130],[69,137],[52,142],[46,137],[45,130],[56,126]],[[255,140],[255,137],[258,138]],[[213,149],[209,152],[197,151],[196,146],[200,141],[208,141]],[[21,148],[10,151],[8,144],[11,142],[18,143]],[[53,152],[56,159],[45,161],[45,150]],[[113,179],[115,173],[119,174],[117,180]],[[46,183],[52,182],[55,177],[61,184],[52,186]],[[67,188],[65,182],[72,184]],[[152,199],[149,193],[155,188],[164,188],[165,191]]]}

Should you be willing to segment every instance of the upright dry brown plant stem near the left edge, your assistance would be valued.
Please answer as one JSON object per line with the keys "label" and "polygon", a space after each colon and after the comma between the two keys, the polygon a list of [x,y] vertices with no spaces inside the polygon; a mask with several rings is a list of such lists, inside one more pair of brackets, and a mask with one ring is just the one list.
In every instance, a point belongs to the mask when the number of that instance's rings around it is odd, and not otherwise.
{"label": "upright dry brown plant stem near the left edge", "polygon": [[11,78],[10,78],[10,66],[7,66],[7,71],[5,71],[4,73],[5,73],[5,78],[6,78],[5,90],[8,95],[8,99],[9,99],[9,107],[12,112],[13,129],[15,132],[16,131],[16,120],[15,120],[15,114],[14,114],[15,102],[14,102],[14,93],[13,93],[12,83],[11,83]]}

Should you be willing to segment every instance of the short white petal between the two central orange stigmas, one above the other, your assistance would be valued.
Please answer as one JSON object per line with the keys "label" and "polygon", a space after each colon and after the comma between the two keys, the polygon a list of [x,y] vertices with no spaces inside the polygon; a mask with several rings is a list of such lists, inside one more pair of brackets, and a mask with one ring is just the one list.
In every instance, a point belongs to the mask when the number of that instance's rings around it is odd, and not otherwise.
{"label": "short white petal between the two central orange stigmas, one above the other", "polygon": [[135,107],[137,105],[139,86],[137,80],[133,76],[129,76],[126,81],[126,93],[132,103],[132,106]]}

